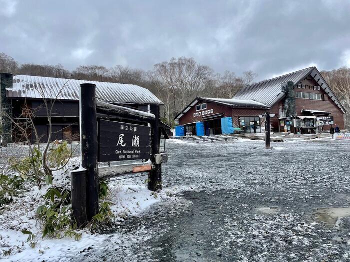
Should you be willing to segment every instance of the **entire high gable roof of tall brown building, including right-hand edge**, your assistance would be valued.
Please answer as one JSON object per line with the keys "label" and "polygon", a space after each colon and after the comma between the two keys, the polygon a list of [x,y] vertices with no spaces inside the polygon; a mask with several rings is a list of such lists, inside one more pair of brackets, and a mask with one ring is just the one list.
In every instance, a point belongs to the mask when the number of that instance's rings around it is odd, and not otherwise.
{"label": "entire high gable roof of tall brown building, including right-hand edge", "polygon": [[292,81],[295,86],[304,80],[304,78],[308,75],[310,75],[317,82],[317,84],[325,91],[329,98],[338,106],[338,108],[345,113],[346,111],[344,107],[341,105],[340,101],[336,98],[333,91],[314,66],[247,85],[239,90],[232,98],[242,100],[253,99],[272,106],[285,95],[281,89],[282,83]]}

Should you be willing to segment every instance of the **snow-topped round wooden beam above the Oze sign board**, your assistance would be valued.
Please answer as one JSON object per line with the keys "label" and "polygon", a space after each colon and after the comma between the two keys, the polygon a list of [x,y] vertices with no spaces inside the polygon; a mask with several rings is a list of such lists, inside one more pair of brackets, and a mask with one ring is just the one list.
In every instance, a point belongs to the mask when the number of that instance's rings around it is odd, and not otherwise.
{"label": "snow-topped round wooden beam above the Oze sign board", "polygon": [[96,110],[97,113],[118,116],[123,119],[130,119],[141,122],[154,122],[155,120],[155,116],[153,114],[127,108],[124,106],[108,104],[105,102],[96,102]]}

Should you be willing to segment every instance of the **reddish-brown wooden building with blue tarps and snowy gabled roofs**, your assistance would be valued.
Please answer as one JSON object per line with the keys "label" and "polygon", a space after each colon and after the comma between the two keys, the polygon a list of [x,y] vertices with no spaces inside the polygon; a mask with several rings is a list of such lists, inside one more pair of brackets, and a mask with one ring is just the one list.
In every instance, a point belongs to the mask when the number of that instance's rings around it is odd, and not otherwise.
{"label": "reddish-brown wooden building with blue tarps and snowy gabled roofs", "polygon": [[[175,119],[183,126],[183,135],[222,134],[230,130],[259,133],[264,125],[261,116],[267,111],[275,114],[271,118],[273,132],[286,129],[291,133],[316,133],[320,116],[331,116],[334,125],[344,128],[345,109],[316,67],[247,85],[231,99],[197,97]],[[230,118],[228,131],[225,128],[222,132],[222,123],[227,122],[222,118]],[[323,130],[329,128],[322,126]]]}

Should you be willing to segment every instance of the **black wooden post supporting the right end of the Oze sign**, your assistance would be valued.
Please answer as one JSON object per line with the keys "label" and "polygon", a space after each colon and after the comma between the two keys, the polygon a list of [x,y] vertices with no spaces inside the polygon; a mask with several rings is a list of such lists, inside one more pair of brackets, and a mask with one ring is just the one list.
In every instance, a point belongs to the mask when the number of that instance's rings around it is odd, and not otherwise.
{"label": "black wooden post supporting the right end of the Oze sign", "polygon": [[160,143],[159,105],[150,105],[150,113],[155,116],[154,122],[151,123],[151,160],[155,168],[149,172],[148,189],[156,191],[161,189],[161,163],[155,157],[159,154]]}

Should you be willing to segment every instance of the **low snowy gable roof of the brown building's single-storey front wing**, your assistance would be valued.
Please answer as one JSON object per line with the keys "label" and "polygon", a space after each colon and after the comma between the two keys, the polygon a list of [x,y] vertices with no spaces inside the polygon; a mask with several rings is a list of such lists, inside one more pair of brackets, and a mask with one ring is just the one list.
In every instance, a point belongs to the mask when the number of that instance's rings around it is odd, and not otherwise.
{"label": "low snowy gable roof of the brown building's single-storey front wing", "polygon": [[199,101],[210,102],[213,104],[237,107],[237,108],[257,108],[257,109],[269,109],[268,105],[254,101],[254,100],[242,100],[242,99],[232,99],[232,98],[209,98],[209,97],[196,97],[192,102],[190,102],[180,113],[178,113],[174,119],[179,119],[183,116],[189,109],[191,109]]}

